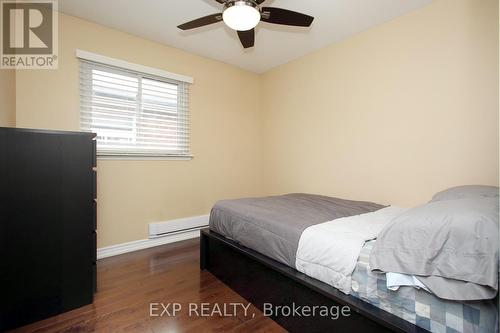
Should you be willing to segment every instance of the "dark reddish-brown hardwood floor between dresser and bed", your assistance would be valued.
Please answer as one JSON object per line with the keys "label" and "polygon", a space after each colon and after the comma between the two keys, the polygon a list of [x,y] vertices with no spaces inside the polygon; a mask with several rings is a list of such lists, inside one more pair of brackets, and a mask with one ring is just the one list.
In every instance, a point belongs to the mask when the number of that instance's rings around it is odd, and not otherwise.
{"label": "dark reddish-brown hardwood floor between dresser and bed", "polygon": [[[209,303],[209,309],[214,304],[248,305],[212,274],[200,271],[198,239],[102,259],[97,269],[92,305],[12,332],[286,332],[253,305],[246,316],[242,307],[236,316],[203,317],[200,308],[199,316],[195,311],[190,316],[190,302]],[[176,316],[151,317],[150,303],[180,303],[182,310]],[[162,311],[159,307],[155,314]]]}

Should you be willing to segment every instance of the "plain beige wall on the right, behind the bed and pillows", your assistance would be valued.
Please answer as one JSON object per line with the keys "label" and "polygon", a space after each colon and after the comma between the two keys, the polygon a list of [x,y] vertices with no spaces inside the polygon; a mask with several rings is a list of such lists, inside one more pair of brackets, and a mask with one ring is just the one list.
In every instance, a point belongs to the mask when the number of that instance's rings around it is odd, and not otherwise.
{"label": "plain beige wall on the right, behind the bed and pillows", "polygon": [[498,1],[438,0],[263,76],[268,193],[498,184]]}

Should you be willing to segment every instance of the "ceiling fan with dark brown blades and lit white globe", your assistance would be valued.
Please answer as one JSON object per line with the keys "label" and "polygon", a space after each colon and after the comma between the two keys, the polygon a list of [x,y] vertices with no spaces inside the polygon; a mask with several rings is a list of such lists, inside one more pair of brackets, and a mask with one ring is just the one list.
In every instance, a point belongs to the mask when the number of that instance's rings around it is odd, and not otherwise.
{"label": "ceiling fan with dark brown blades and lit white globe", "polygon": [[261,7],[266,0],[215,0],[224,5],[222,13],[212,14],[179,25],[181,30],[190,30],[224,21],[238,32],[244,48],[254,46],[254,28],[260,21],[274,24],[309,27],[314,17],[276,7]]}

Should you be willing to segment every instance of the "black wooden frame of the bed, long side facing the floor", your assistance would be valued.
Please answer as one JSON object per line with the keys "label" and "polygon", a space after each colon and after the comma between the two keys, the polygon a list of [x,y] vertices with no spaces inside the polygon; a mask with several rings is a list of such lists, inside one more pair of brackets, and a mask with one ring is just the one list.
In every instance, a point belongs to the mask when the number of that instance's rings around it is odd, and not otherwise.
{"label": "black wooden frame of the bed, long side facing the floor", "polygon": [[270,316],[289,332],[428,332],[393,314],[243,247],[209,229],[201,231],[200,268],[260,310],[273,306],[349,306],[349,316]]}

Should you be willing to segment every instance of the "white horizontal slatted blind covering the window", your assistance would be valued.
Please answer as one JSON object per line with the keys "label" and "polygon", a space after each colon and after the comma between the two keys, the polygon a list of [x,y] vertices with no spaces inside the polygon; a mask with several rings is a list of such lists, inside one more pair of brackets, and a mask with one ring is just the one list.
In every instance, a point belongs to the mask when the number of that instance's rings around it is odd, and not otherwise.
{"label": "white horizontal slatted blind covering the window", "polygon": [[189,157],[189,83],[80,59],[80,127],[99,156]]}

